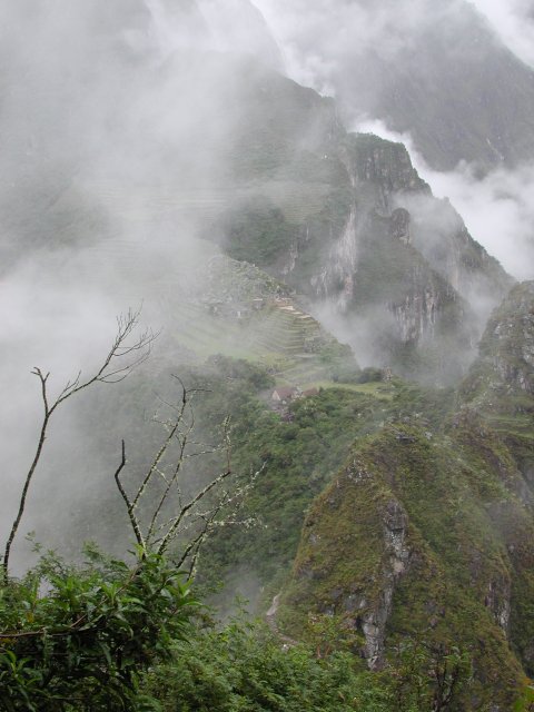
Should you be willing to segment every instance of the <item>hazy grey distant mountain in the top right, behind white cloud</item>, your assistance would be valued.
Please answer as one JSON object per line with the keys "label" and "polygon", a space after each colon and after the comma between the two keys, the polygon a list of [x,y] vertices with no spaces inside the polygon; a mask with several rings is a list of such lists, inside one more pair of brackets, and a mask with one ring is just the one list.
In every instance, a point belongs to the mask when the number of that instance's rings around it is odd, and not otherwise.
{"label": "hazy grey distant mountain in the top right, behind white cloud", "polygon": [[469,2],[264,4],[299,77],[334,91],[352,118],[409,131],[433,168],[532,158],[533,70]]}

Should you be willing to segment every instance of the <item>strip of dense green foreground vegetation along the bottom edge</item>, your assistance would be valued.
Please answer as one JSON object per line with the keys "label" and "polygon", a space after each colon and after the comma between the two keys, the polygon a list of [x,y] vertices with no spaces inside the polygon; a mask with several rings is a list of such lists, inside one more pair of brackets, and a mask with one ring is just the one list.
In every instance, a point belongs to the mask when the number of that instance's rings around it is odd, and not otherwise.
{"label": "strip of dense green foreground vegetation along the bottom edge", "polygon": [[313,646],[245,619],[220,627],[170,561],[86,554],[77,567],[47,554],[2,587],[2,710],[426,712],[469,680],[455,649],[399,647],[370,675],[335,651],[332,624]]}

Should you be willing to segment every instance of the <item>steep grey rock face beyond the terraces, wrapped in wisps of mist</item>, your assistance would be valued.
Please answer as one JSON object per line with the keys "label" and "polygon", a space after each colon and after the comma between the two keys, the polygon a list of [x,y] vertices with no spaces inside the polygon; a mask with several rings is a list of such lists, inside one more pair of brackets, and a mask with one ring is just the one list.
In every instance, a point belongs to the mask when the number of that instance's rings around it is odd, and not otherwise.
{"label": "steep grey rock face beyond the terraces, wrapped in wisps of mist", "polygon": [[[339,157],[352,204],[339,236],[329,236],[322,273],[312,278],[316,298],[347,319],[346,332],[354,316],[373,324],[375,362],[407,374],[411,356],[402,352],[414,349],[439,379],[462,373],[479,337],[477,322],[504,295],[507,275],[449,204],[432,196],[404,146],[349,135]],[[291,266],[298,269],[304,258]],[[353,342],[342,330],[339,338],[357,349],[358,335]],[[447,352],[454,357],[442,364],[439,354]]]}

